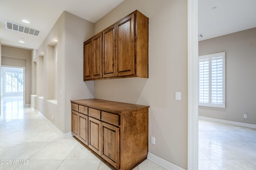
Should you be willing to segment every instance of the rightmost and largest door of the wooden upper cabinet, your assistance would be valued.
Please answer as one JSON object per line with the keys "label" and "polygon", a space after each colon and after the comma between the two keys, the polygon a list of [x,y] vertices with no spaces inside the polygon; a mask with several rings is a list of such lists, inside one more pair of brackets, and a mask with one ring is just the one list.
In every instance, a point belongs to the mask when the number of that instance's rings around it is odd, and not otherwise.
{"label": "rightmost and largest door of the wooden upper cabinet", "polygon": [[117,76],[135,74],[134,13],[116,23]]}

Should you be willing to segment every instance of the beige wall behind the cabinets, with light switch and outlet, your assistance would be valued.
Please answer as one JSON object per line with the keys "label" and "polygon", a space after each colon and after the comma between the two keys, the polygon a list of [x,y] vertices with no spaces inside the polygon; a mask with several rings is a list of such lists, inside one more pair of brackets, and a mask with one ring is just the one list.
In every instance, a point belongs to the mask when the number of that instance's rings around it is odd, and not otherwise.
{"label": "beige wall behind the cabinets, with light switch and outlet", "polygon": [[[95,81],[95,98],[148,105],[149,152],[187,169],[187,0],[125,0],[94,34],[139,10],[149,18],[149,78]],[[181,92],[181,101],[175,100]]]}

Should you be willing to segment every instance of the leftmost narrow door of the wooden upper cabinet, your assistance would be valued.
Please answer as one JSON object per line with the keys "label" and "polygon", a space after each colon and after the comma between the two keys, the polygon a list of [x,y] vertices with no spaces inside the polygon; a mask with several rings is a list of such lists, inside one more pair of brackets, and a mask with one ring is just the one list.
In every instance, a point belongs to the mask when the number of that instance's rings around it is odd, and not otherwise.
{"label": "leftmost narrow door of the wooden upper cabinet", "polygon": [[92,39],[84,42],[84,81],[92,78],[91,72]]}

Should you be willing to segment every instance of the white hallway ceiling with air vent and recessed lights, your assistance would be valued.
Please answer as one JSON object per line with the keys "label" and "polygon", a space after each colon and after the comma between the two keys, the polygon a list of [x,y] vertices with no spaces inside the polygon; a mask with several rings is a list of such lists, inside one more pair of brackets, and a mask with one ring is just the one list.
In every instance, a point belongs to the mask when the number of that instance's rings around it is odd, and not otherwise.
{"label": "white hallway ceiling with air vent and recessed lights", "polygon": [[[0,0],[2,45],[38,49],[63,11],[95,23],[124,0]],[[22,20],[30,21],[29,24]],[[41,31],[38,36],[5,29],[10,21]],[[24,38],[25,43],[19,43]]]}

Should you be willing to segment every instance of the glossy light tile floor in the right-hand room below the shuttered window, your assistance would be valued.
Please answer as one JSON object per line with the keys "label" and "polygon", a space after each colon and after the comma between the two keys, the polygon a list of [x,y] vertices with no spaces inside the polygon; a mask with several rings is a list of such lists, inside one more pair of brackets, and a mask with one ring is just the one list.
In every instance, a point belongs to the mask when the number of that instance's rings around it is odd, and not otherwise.
{"label": "glossy light tile floor in the right-hand room below the shuttered window", "polygon": [[256,170],[256,129],[199,120],[199,170]]}

